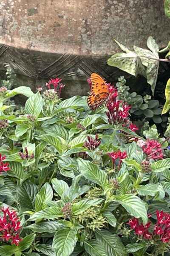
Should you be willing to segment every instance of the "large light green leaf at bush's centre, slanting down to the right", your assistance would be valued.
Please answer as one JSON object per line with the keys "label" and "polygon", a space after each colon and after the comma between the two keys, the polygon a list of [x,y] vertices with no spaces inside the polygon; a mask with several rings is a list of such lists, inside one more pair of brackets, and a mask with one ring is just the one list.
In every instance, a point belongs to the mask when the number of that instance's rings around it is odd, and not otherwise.
{"label": "large light green leaf at bush's centre, slanting down to the right", "polygon": [[102,187],[108,184],[108,175],[105,171],[98,169],[98,167],[90,161],[85,161],[81,158],[79,158],[77,162],[80,172],[86,179]]}

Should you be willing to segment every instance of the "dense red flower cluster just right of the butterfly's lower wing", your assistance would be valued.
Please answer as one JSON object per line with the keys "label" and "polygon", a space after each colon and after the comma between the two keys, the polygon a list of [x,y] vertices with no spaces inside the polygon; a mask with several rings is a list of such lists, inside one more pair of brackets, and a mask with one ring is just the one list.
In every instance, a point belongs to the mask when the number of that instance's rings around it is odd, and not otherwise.
{"label": "dense red flower cluster just right of the butterfly's lower wing", "polygon": [[127,117],[129,116],[129,109],[131,108],[130,106],[128,106],[126,103],[124,104],[122,100],[113,101],[111,98],[108,99],[106,106],[108,108],[106,115],[108,116],[109,123],[113,125],[127,124]]}

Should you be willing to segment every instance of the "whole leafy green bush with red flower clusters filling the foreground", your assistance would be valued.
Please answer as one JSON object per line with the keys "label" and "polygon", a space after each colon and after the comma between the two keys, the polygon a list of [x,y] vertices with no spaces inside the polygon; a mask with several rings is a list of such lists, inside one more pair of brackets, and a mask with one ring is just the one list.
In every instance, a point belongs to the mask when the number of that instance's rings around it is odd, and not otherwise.
{"label": "whole leafy green bush with red flower clusters filling the foreground", "polygon": [[[106,107],[91,112],[86,97],[62,101],[60,81],[37,93],[28,87],[0,93],[0,255],[168,251],[164,139],[137,135],[130,107],[115,91]],[[25,108],[9,114],[6,101],[17,94],[28,97]]]}

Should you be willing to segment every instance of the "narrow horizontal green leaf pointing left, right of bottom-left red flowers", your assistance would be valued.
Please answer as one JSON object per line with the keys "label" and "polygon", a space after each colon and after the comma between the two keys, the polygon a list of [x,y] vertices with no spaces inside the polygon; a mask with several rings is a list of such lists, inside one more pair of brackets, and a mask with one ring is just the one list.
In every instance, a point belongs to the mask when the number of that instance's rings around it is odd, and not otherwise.
{"label": "narrow horizontal green leaf pointing left, right of bottom-left red flowers", "polygon": [[62,224],[57,221],[42,221],[38,223],[33,223],[26,227],[26,229],[31,229],[33,232],[37,233],[54,233],[57,230],[61,229]]}

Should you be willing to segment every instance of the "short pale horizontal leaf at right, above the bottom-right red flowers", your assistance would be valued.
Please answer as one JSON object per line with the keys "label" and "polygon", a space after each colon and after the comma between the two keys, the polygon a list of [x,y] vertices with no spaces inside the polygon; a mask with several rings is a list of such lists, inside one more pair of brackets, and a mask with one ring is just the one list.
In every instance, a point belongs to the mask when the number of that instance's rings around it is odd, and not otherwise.
{"label": "short pale horizontal leaf at right, above the bottom-right red flowers", "polygon": [[136,191],[139,195],[151,195],[154,196],[159,191],[158,184],[146,184],[144,186],[139,185],[136,187]]}

